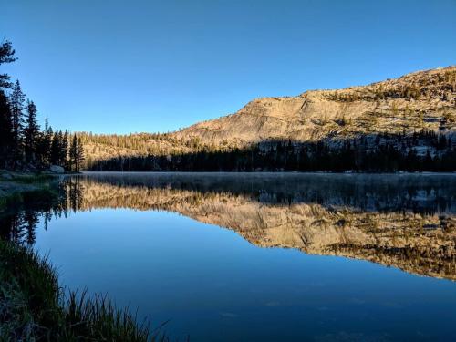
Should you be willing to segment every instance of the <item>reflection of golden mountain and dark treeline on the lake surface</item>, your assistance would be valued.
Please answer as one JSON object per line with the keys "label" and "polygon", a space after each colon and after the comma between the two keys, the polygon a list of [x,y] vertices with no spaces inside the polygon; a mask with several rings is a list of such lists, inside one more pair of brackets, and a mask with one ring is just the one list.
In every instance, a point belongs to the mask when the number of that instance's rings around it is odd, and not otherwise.
{"label": "reflection of golden mountain and dark treeline on the lake surface", "polygon": [[82,177],[67,187],[78,188],[78,210],[178,212],[231,229],[261,247],[341,255],[456,279],[456,181],[451,177],[185,177],[190,176],[152,181],[131,176],[121,182]]}

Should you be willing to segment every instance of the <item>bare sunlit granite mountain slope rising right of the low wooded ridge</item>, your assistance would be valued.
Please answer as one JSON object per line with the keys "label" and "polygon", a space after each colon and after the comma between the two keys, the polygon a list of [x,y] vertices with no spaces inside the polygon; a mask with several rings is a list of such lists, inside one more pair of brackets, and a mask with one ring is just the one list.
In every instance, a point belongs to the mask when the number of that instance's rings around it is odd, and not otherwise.
{"label": "bare sunlit granite mountain slope rising right of the low wooded ridge", "polygon": [[221,144],[261,140],[316,141],[372,133],[456,130],[456,67],[341,90],[259,98],[233,115],[174,133]]}

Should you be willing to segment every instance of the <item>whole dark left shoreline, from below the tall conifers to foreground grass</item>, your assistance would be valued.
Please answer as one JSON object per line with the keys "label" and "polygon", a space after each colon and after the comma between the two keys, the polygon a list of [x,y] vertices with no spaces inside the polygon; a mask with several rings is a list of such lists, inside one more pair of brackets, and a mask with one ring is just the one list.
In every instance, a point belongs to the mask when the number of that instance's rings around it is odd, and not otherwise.
{"label": "whole dark left shoreline, from below the tall conifers to foreground grass", "polygon": [[57,268],[30,245],[5,238],[8,215],[58,204],[61,176],[0,170],[0,340],[168,341],[160,329],[140,324],[107,295],[65,289]]}

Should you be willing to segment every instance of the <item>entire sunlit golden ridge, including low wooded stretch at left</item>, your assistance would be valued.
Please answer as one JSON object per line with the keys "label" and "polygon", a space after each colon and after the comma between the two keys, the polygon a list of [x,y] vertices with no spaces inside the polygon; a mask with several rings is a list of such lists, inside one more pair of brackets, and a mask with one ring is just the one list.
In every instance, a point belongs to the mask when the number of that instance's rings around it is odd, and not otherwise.
{"label": "entire sunlit golden ridge, including low wooded stretch at left", "polygon": [[416,71],[367,86],[254,98],[237,112],[170,133],[79,133],[88,160],[243,149],[274,140],[357,140],[432,131],[456,142],[456,66]]}

